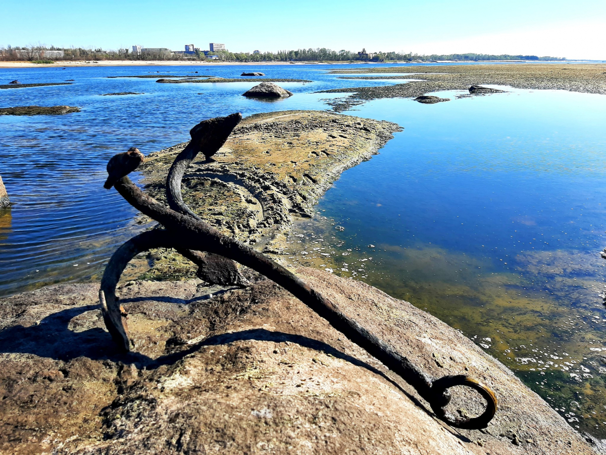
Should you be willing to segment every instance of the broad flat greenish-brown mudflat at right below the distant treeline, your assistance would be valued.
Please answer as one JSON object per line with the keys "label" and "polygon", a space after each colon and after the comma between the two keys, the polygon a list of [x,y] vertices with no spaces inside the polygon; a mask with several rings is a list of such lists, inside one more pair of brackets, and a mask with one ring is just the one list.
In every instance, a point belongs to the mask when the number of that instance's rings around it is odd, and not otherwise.
{"label": "broad flat greenish-brown mudflat at right below the distant treeline", "polygon": [[[472,85],[510,86],[518,89],[568,90],[606,94],[606,64],[474,64],[430,67],[381,67],[368,70],[333,70],[344,79],[422,79],[405,84],[323,90],[320,93],[351,93],[330,102],[337,111],[381,98],[415,98],[444,90],[468,90]],[[380,76],[390,73],[390,76]],[[393,76],[393,73],[403,73]],[[359,74],[360,76],[350,76]]]}

